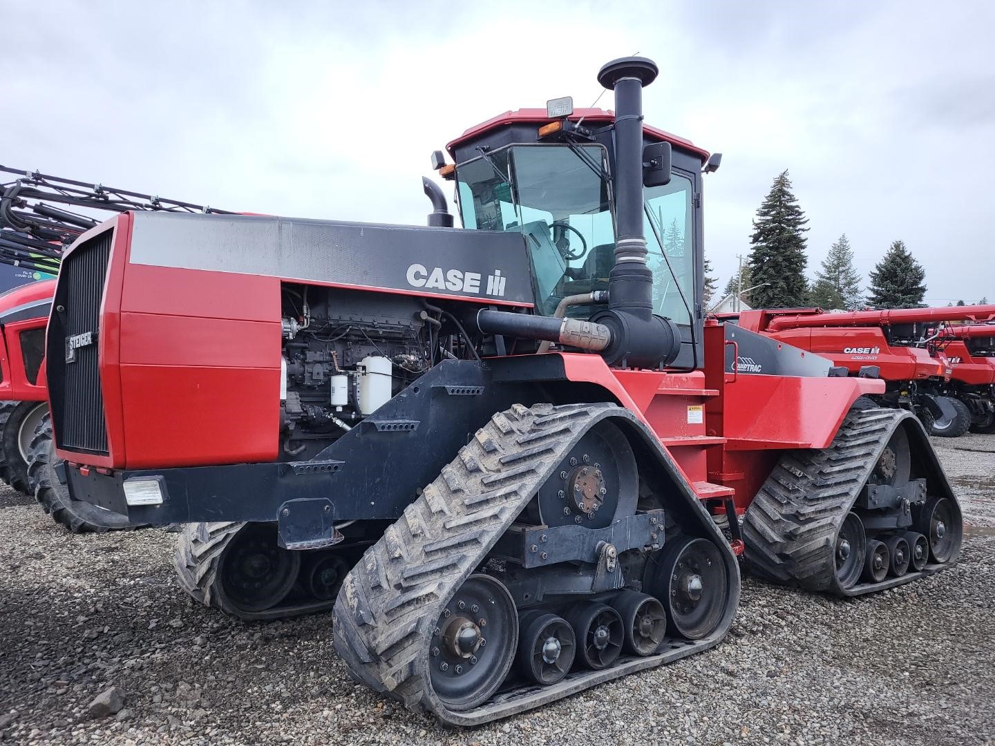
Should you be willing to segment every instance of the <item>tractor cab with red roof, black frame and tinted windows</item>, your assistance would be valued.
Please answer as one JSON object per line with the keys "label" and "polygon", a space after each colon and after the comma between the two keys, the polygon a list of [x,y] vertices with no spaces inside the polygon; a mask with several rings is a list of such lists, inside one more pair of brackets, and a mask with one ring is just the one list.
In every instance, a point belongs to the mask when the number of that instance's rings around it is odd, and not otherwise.
{"label": "tractor cab with red roof, black frame and tinted windows", "polygon": [[[553,315],[564,298],[565,315],[588,318],[608,290],[615,266],[618,186],[613,146],[614,114],[583,109],[551,117],[519,109],[468,129],[449,143],[455,166],[442,175],[456,181],[456,199],[467,229],[515,231],[525,238],[535,311]],[[681,330],[674,367],[700,366],[700,173],[707,152],[691,142],[644,126],[645,152],[663,153],[644,179],[643,229],[647,267],[653,273],[653,313]],[[666,152],[664,152],[666,150]],[[646,160],[646,156],[644,156]],[[560,310],[563,313],[563,309]]]}

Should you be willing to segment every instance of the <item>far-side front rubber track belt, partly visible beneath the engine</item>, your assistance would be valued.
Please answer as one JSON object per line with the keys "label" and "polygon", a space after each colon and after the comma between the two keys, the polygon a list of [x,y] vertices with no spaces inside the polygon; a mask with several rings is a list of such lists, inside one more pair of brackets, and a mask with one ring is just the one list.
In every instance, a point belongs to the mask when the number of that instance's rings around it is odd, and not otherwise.
{"label": "far-side front rubber track belt, partly visible beneath the engine", "polygon": [[334,602],[330,600],[276,606],[263,612],[245,612],[232,606],[221,589],[218,569],[228,544],[245,525],[244,522],[219,522],[183,526],[173,553],[173,566],[180,588],[205,606],[246,622],[286,619],[331,609]]}

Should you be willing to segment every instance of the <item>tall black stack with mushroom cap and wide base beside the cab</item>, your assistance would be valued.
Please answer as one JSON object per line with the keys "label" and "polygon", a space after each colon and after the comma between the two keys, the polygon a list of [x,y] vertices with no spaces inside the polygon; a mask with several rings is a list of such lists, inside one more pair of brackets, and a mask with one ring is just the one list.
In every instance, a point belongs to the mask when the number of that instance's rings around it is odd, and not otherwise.
{"label": "tall black stack with mushroom cap and wide base beside the cab", "polygon": [[658,73],[645,57],[614,60],[598,73],[598,83],[615,91],[618,241],[608,276],[608,309],[591,321],[612,331],[612,343],[601,353],[609,365],[656,368],[672,363],[681,351],[677,325],[653,314],[653,272],[646,264],[643,229],[643,88]]}

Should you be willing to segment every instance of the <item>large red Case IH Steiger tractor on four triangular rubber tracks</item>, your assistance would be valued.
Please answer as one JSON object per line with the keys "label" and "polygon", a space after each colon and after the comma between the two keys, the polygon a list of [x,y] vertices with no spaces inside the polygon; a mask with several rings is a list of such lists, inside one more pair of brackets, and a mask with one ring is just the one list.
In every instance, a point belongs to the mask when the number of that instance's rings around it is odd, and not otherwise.
{"label": "large red Case IH Steiger tractor on four triangular rubber tracks", "polygon": [[614,114],[555,99],[437,152],[463,229],[426,179],[426,227],[124,213],[81,236],[51,482],[195,524],[191,592],[333,609],[358,680],[454,725],[717,645],[744,549],[840,596],[954,562],[925,433],[861,404],[883,381],[705,322],[718,158],[644,125],[657,72],[616,60]]}

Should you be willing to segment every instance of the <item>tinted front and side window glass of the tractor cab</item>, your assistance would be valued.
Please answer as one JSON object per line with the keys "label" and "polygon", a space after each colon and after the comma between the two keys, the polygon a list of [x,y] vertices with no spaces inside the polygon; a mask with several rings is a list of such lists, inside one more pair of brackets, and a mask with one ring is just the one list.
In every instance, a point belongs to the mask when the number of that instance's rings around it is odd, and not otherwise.
{"label": "tinted front and side window glass of the tractor cab", "polygon": [[[567,295],[608,289],[615,264],[615,224],[609,198],[607,152],[601,145],[528,145],[501,148],[457,169],[466,228],[519,231],[528,243],[536,310],[551,315]],[[654,273],[654,311],[679,323],[694,298],[691,182],[647,190],[648,264]],[[651,217],[652,216],[652,219]],[[656,240],[658,224],[664,249]],[[670,262],[674,275],[665,261]],[[571,306],[584,317],[594,306]]]}

